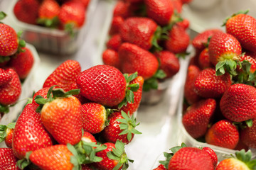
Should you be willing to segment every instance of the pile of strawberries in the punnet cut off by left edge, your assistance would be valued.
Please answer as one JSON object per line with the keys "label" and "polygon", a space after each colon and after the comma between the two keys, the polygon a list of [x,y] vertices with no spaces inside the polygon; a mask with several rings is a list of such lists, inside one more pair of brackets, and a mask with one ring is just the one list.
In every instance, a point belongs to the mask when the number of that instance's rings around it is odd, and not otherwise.
{"label": "pile of strawberries in the punnet cut off by left edge", "polygon": [[[6,13],[0,12],[0,20]],[[21,96],[21,82],[33,67],[34,57],[20,39],[21,33],[0,23],[0,120],[9,107],[14,106]]]}

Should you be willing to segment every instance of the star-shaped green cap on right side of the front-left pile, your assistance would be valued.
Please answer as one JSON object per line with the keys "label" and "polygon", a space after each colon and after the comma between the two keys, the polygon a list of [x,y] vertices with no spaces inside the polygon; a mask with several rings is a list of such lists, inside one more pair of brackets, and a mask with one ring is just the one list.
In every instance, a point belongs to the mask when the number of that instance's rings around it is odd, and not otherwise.
{"label": "star-shaped green cap on right side of the front-left pile", "polygon": [[136,123],[136,118],[134,117],[134,114],[129,115],[129,113],[125,113],[124,111],[121,111],[122,117],[121,119],[117,119],[120,123],[120,129],[122,130],[119,135],[125,135],[127,134],[127,140],[131,141],[132,140],[132,134],[142,134],[142,132],[139,132],[138,130],[135,129],[139,123]]}

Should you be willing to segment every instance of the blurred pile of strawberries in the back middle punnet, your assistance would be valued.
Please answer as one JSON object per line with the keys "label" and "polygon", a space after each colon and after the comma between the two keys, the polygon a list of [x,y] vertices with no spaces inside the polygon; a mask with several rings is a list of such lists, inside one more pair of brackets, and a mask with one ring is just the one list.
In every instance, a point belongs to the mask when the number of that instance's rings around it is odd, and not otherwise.
{"label": "blurred pile of strawberries in the back middle punnet", "polygon": [[104,64],[123,73],[138,72],[143,91],[157,89],[160,81],[179,70],[186,55],[189,22],[181,18],[183,0],[119,0],[114,6]]}

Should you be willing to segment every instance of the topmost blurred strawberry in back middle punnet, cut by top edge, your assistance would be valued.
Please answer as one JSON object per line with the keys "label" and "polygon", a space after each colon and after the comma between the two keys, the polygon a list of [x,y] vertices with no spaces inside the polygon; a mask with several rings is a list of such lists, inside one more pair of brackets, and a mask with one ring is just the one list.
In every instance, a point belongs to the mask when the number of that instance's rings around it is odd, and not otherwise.
{"label": "topmost blurred strawberry in back middle punnet, cut by top edge", "polygon": [[154,19],[160,26],[166,26],[171,22],[174,14],[174,6],[169,0],[145,0],[146,14]]}

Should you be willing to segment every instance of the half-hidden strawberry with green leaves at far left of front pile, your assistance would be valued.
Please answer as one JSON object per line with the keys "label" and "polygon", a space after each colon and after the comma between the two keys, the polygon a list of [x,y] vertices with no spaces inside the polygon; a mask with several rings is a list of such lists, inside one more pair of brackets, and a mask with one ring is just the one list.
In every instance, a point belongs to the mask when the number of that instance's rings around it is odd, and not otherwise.
{"label": "half-hidden strawberry with green leaves at far left of front pile", "polygon": [[9,123],[8,125],[0,125],[0,142],[5,142],[7,147],[11,148],[12,137],[14,134],[14,127],[16,123]]}

